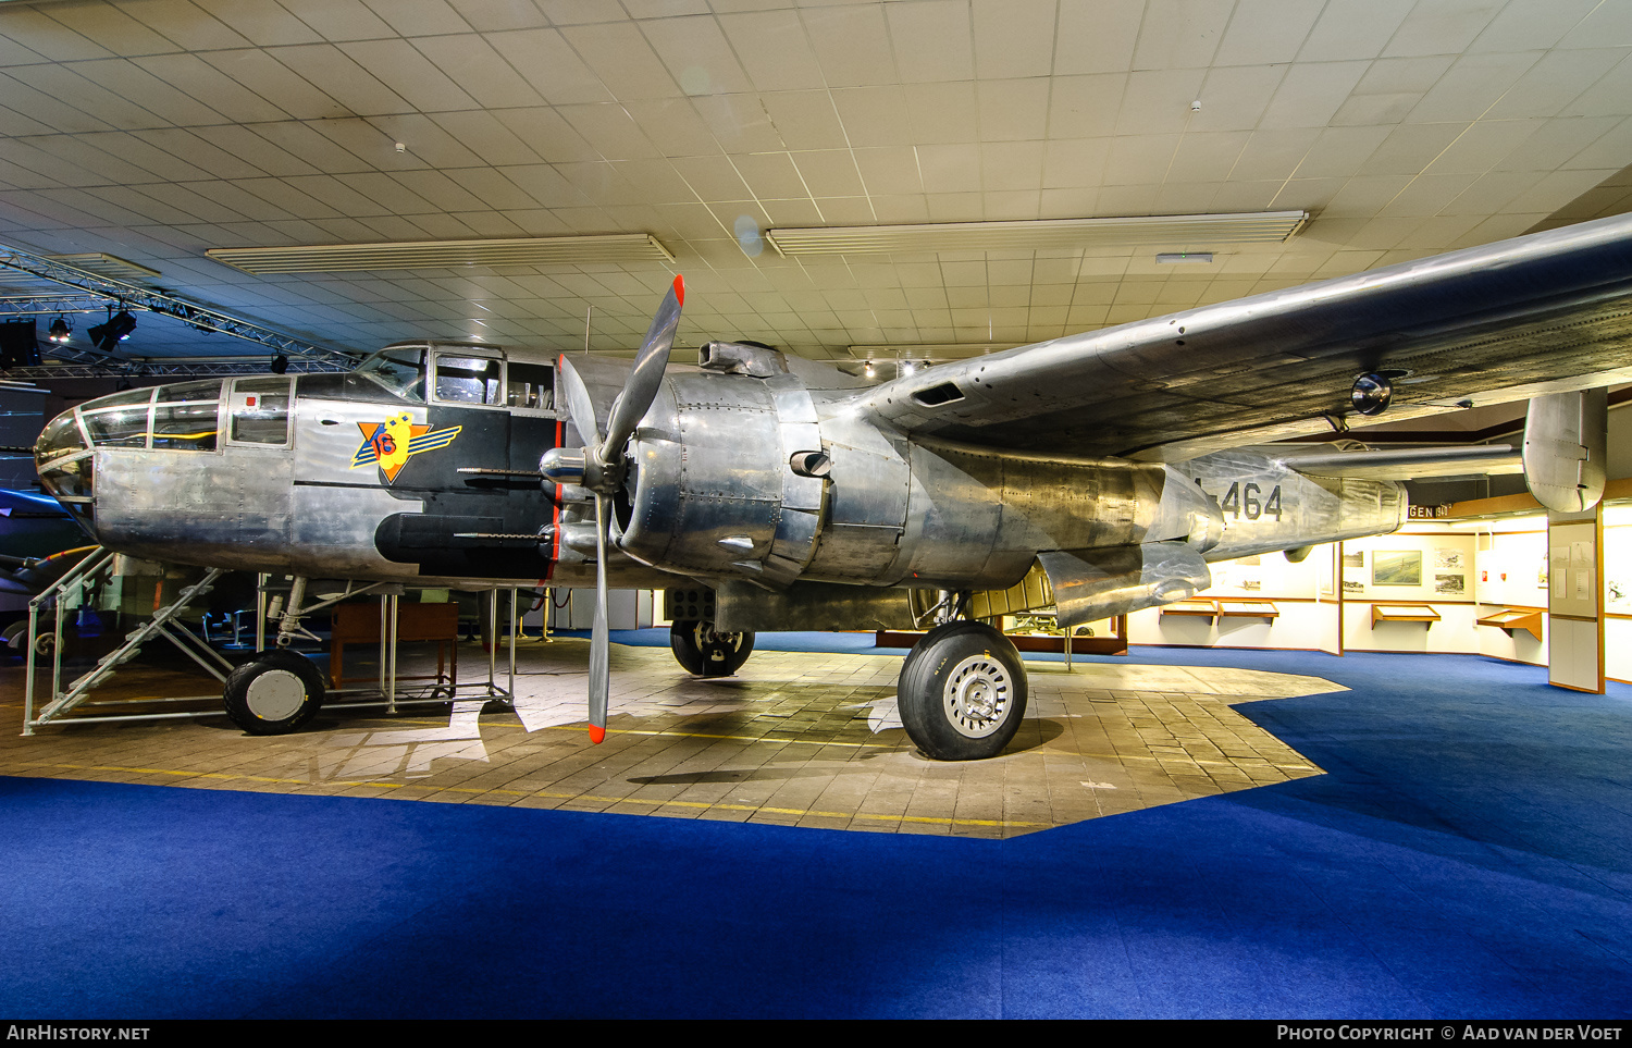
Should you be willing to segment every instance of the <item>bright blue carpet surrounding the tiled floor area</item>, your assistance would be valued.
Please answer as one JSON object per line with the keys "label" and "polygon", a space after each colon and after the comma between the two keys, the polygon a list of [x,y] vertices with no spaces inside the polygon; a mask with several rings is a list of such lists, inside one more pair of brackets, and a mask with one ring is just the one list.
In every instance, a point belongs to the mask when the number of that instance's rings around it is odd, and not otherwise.
{"label": "bright blue carpet surrounding the tiled floor area", "polygon": [[0,779],[31,1019],[1624,1019],[1632,689],[1136,650],[1327,774],[994,842]]}

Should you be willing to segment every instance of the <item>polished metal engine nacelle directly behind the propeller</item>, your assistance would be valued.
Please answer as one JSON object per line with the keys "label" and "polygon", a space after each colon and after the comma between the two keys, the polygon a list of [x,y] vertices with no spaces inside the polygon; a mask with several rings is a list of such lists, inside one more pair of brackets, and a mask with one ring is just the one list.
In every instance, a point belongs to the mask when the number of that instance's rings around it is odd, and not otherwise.
{"label": "polished metal engine nacelle directly behind the propeller", "polygon": [[823,403],[787,372],[669,375],[635,434],[622,548],[775,586],[1004,589],[1038,550],[1200,555],[1222,534],[1206,493],[1160,464],[914,442]]}

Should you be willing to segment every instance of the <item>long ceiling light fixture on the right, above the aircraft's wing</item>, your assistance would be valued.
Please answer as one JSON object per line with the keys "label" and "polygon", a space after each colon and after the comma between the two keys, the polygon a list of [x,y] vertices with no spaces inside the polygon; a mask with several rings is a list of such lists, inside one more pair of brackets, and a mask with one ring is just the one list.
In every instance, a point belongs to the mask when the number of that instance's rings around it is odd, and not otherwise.
{"label": "long ceiling light fixture on the right, above the aircraft's wing", "polygon": [[1224,215],[774,229],[765,233],[765,238],[775,245],[777,251],[790,256],[1036,251],[1147,243],[1182,248],[1209,243],[1279,242],[1302,229],[1307,220],[1307,211],[1263,211]]}

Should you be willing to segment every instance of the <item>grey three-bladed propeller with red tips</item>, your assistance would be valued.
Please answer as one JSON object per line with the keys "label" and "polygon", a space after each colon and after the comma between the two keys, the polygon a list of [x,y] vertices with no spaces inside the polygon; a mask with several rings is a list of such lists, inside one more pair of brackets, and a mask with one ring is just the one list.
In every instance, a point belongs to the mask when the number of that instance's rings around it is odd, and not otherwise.
{"label": "grey three-bladed propeller with red tips", "polygon": [[628,441],[635,436],[640,420],[651,410],[663,387],[663,372],[669,366],[674,348],[674,331],[681,326],[681,307],[685,304],[685,279],[674,278],[669,294],[663,297],[646,341],[640,346],[635,367],[623,382],[623,390],[612,402],[607,415],[605,436],[596,424],[594,402],[583,375],[566,356],[560,359],[561,397],[573,416],[573,426],[586,441],[581,449],[552,447],[543,452],[539,472],[553,483],[576,483],[596,496],[596,617],[589,632],[589,741],[601,743],[607,735],[607,540],[610,539],[612,495],[623,483],[623,460]]}

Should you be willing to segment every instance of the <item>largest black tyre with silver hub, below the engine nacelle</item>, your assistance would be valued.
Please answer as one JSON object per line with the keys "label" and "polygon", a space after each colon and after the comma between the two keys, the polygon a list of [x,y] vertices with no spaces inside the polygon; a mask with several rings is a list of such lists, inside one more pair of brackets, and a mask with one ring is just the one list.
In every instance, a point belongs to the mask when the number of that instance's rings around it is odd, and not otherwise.
{"label": "largest black tyre with silver hub, below the engine nacelle", "polygon": [[1020,653],[984,622],[929,632],[901,666],[896,707],[917,748],[937,761],[996,757],[1025,717]]}

